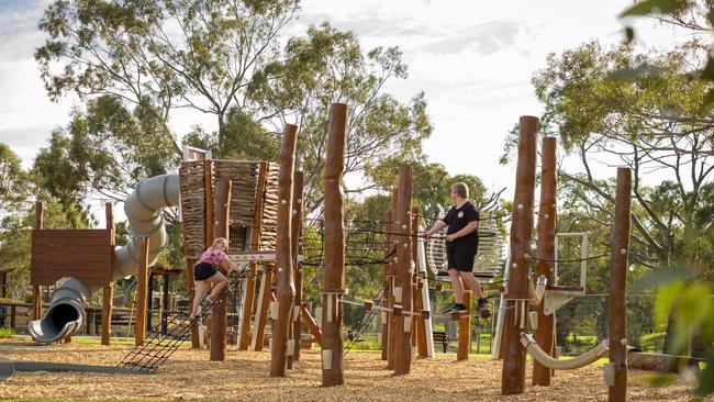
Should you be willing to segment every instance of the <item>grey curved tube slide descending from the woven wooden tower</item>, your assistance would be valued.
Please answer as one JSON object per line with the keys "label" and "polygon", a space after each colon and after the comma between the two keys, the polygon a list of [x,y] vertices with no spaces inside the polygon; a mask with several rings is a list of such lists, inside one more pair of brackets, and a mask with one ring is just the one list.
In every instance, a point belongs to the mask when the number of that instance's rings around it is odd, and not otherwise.
{"label": "grey curved tube slide descending from the woven wooden tower", "polygon": [[[124,202],[132,238],[114,250],[112,280],[138,272],[142,237],[149,239],[148,265],[154,265],[168,243],[160,210],[178,202],[178,175],[155,176],[138,182]],[[42,319],[27,325],[33,339],[55,342],[77,333],[87,321],[85,303],[89,291],[77,278],[66,278],[52,295],[52,304]]]}

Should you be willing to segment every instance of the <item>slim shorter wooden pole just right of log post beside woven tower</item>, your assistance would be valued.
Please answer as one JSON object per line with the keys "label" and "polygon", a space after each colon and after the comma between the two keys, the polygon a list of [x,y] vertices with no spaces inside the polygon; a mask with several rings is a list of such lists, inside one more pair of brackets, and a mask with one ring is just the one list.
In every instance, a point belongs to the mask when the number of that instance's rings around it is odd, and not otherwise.
{"label": "slim shorter wooden pole just right of log post beside woven tower", "polygon": [[302,248],[300,237],[302,235],[302,190],[304,187],[304,176],[302,171],[295,171],[294,185],[292,190],[292,261],[294,264],[295,275],[295,299],[292,303],[292,356],[288,354],[288,368],[292,369],[292,361],[300,360],[300,339],[302,334],[302,324],[300,321],[300,305],[302,304],[302,268],[298,264],[298,256]]}

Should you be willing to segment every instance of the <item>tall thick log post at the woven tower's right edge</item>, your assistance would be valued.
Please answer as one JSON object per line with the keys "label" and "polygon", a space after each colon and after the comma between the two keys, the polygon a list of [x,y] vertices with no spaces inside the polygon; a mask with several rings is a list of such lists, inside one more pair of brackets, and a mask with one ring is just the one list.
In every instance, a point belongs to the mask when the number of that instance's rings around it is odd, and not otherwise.
{"label": "tall thick log post at the woven tower's right edge", "polygon": [[295,147],[298,126],[286,124],[280,148],[280,171],[278,174],[278,231],[276,236],[276,271],[278,282],[278,320],[272,324],[270,347],[270,377],[286,377],[288,371],[288,333],[291,327],[292,302],[295,284],[292,272],[292,178],[295,171]]}

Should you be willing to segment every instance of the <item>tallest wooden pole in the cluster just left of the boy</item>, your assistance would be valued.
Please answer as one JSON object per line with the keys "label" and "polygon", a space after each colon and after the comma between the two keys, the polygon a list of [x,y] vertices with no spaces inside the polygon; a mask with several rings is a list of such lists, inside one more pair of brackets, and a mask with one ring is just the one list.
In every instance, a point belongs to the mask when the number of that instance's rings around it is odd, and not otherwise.
{"label": "tallest wooden pole in the cluster just left of the boy", "polygon": [[[412,242],[410,241],[412,203],[412,168],[399,168],[399,190],[397,198],[397,284],[394,286],[394,302],[402,305],[402,311],[412,311]],[[401,294],[400,294],[401,293]],[[412,366],[411,322],[409,315],[397,316],[397,342],[394,345],[394,373],[408,375]],[[408,327],[409,326],[409,327]]]}

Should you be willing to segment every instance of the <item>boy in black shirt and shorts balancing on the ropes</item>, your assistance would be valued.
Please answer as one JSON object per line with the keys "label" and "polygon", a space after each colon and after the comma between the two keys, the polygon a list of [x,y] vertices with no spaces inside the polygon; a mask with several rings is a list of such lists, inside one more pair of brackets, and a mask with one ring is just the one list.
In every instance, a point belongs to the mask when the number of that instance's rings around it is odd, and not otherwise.
{"label": "boy in black shirt and shorts balancing on the ropes", "polygon": [[424,237],[429,238],[434,233],[448,226],[446,257],[455,302],[450,311],[467,310],[464,305],[464,283],[478,298],[477,309],[486,309],[489,302],[483,298],[481,286],[472,272],[473,259],[479,246],[479,212],[468,200],[469,188],[466,183],[457,182],[451,186],[450,197],[454,206],[446,213],[446,216],[434,223],[434,227],[424,233]]}

